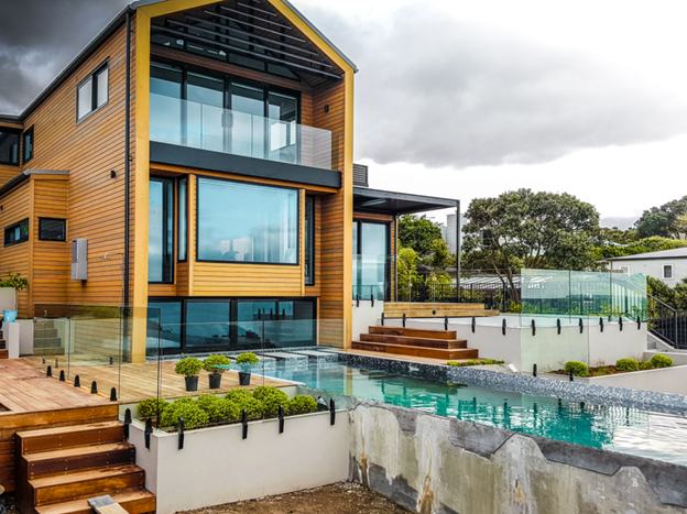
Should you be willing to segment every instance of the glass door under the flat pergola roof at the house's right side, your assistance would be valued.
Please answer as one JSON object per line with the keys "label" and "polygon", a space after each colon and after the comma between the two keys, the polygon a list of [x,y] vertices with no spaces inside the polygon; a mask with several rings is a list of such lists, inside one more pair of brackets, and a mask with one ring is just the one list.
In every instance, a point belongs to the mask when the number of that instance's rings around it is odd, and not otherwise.
{"label": "glass door under the flat pergola roof at the house's right side", "polygon": [[353,221],[353,296],[390,298],[390,253],[389,223]]}

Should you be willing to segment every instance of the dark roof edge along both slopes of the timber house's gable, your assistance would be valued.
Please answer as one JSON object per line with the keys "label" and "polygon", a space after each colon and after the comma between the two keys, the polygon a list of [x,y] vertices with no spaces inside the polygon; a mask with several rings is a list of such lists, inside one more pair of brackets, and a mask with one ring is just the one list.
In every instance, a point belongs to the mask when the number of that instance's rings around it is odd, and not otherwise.
{"label": "dark roof edge along both slopes of the timber house's gable", "polygon": [[[127,6],[119,14],[117,14],[117,17],[112,19],[112,21],[110,21],[110,23],[106,25],[105,29],[102,29],[102,31],[100,31],[100,33],[98,33],[98,35],[91,40],[90,43],[86,45],[84,50],[81,50],[81,52],[79,52],[76,57],[74,57],[74,59],[53,79],[53,81],[51,81],[31,103],[29,103],[21,114],[15,116],[0,113],[0,121],[17,123],[25,120],[26,117],[31,114],[31,112],[33,112],[33,110],[41,105],[41,102],[43,102],[43,100],[52,95],[69,75],[72,75],[81,64],[84,64],[86,59],[90,57],[90,55],[126,22],[127,13],[133,13],[139,8],[153,6],[155,3],[163,3],[165,1],[167,0],[138,0]],[[308,25],[319,37],[321,37],[323,41],[353,69],[353,73],[358,73],[358,67],[353,64],[353,62],[349,59],[344,52],[341,52],[327,36],[325,36],[307,18],[305,18],[301,11],[288,2],[288,0],[282,1],[294,12],[294,14],[296,14],[306,25]]]}

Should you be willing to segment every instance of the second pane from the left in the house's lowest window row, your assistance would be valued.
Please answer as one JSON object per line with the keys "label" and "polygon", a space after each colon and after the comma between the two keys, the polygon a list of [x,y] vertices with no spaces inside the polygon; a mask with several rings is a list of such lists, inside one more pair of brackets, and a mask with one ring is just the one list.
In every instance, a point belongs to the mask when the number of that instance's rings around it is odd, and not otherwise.
{"label": "second pane from the left in the house's lowest window row", "polygon": [[229,302],[188,302],[186,304],[186,346],[228,346],[230,341]]}

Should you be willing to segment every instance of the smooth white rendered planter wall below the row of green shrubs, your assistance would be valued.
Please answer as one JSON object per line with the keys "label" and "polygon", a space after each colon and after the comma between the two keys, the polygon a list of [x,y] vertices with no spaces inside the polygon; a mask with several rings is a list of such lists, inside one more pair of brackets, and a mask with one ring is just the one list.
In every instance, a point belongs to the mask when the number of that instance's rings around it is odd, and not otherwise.
{"label": "smooth white rendered planter wall below the row of green shrubs", "polygon": [[284,434],[276,419],[187,431],[155,431],[145,449],[143,427],[131,425],[137,464],[145,486],[157,496],[157,514],[173,514],[223,503],[317,488],[348,480],[349,418],[337,412],[287,417]]}

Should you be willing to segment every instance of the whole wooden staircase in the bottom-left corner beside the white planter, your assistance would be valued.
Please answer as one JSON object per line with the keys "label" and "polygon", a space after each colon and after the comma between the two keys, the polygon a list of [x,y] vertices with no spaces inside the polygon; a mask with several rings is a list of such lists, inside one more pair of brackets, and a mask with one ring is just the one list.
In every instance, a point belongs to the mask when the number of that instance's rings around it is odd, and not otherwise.
{"label": "whole wooden staircase in the bottom-left corner beside the white planter", "polygon": [[17,433],[22,514],[88,514],[88,500],[109,494],[129,514],[155,512],[135,447],[115,420]]}

